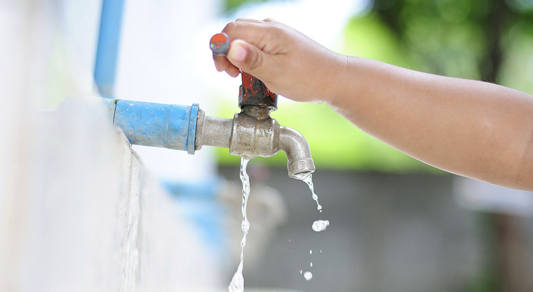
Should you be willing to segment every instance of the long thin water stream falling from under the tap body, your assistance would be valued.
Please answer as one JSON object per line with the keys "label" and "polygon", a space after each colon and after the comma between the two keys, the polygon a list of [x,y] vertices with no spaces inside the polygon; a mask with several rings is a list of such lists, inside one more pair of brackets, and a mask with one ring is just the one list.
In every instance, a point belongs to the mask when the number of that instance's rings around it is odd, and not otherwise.
{"label": "long thin water stream falling from under the tap body", "polygon": [[244,276],[243,276],[243,262],[244,262],[244,246],[246,245],[246,235],[250,230],[250,222],[246,216],[246,206],[248,204],[248,197],[250,196],[250,178],[246,173],[250,159],[241,157],[241,182],[243,183],[243,205],[241,211],[243,212],[243,222],[241,223],[241,230],[243,230],[243,239],[241,240],[241,263],[238,264],[234,277],[228,286],[229,292],[243,292],[244,291]]}

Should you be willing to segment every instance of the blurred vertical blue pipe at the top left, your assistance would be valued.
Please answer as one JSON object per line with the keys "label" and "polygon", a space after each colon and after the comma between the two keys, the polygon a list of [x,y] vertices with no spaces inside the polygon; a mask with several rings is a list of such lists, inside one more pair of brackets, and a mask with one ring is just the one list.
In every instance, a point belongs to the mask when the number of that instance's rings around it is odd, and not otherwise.
{"label": "blurred vertical blue pipe at the top left", "polygon": [[104,98],[114,96],[124,0],[103,0],[95,61],[95,83]]}

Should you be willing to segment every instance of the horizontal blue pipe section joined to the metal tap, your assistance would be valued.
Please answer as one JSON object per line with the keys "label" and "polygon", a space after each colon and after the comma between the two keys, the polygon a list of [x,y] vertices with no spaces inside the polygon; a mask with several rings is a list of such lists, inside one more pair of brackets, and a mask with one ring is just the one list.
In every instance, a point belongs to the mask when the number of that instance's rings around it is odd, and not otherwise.
{"label": "horizontal blue pipe section joined to the metal tap", "polygon": [[132,145],[165,147],[194,154],[198,104],[103,100],[113,124],[124,131]]}

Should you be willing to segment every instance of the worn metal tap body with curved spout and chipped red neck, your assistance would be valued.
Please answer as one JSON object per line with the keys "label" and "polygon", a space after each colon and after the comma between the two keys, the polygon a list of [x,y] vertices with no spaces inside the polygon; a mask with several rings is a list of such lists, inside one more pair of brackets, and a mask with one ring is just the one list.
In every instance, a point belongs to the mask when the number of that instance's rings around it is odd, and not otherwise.
{"label": "worn metal tap body with curved spout and chipped red neck", "polygon": [[269,91],[262,81],[241,73],[239,107],[234,119],[205,116],[198,112],[196,150],[203,145],[227,147],[232,155],[252,159],[271,157],[283,151],[291,178],[304,178],[315,171],[309,144],[298,131],[280,126],[270,117],[277,109],[278,96]]}

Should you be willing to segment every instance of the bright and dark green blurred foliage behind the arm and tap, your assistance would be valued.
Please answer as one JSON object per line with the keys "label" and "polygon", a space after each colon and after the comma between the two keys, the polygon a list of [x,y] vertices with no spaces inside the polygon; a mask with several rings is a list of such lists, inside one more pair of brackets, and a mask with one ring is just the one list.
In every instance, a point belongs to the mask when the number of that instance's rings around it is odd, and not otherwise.
{"label": "bright and dark green blurred foliage behind the arm and tap", "polygon": [[[227,11],[252,1],[259,0],[227,0]],[[533,0],[375,0],[371,11],[346,25],[339,53],[533,93],[532,52]],[[304,135],[317,168],[436,171],[363,133],[326,105],[280,103],[272,117]],[[238,111],[233,104],[219,108],[220,117]],[[218,149],[217,157],[220,164],[240,162],[227,149]],[[254,160],[287,164],[281,153]]]}

